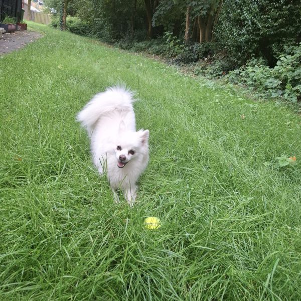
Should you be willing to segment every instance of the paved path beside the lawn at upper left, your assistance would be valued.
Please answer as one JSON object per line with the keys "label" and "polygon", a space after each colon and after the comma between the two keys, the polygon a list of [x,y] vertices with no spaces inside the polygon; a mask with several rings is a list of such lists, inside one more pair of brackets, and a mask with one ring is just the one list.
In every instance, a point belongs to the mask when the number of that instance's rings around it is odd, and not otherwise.
{"label": "paved path beside the lawn at upper left", "polygon": [[42,36],[40,33],[27,30],[10,34],[0,34],[0,56],[18,50]]}

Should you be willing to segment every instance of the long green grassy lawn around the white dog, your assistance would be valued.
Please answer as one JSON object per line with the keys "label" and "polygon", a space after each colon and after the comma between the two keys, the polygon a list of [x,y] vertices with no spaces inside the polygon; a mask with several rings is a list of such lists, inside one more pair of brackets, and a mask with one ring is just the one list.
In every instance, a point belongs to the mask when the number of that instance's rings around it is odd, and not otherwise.
{"label": "long green grassy lawn around the white dog", "polygon": [[[0,299],[300,300],[300,117],[30,29],[45,36],[0,59]],[[117,82],[150,130],[133,209],[113,202],[75,122]],[[278,168],[282,155],[296,164]]]}

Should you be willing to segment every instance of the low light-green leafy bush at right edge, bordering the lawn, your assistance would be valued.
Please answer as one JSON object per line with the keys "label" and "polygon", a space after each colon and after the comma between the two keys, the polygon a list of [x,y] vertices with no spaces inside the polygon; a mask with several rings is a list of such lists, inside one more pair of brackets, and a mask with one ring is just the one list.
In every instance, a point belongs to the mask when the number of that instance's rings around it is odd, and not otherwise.
{"label": "low light-green leafy bush at right edge, bordering the lawn", "polygon": [[278,57],[274,68],[269,68],[263,59],[252,59],[226,78],[256,88],[265,96],[297,102],[301,100],[301,43],[290,47],[289,52]]}

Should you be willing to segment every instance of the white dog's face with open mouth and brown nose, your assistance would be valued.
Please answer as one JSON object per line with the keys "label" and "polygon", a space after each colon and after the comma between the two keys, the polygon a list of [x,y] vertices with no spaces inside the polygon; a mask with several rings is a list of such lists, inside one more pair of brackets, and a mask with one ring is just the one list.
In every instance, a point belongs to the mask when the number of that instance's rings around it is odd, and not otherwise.
{"label": "white dog's face with open mouth and brown nose", "polygon": [[148,148],[148,136],[148,129],[137,132],[119,132],[114,149],[118,168],[125,167],[128,162],[145,153]]}

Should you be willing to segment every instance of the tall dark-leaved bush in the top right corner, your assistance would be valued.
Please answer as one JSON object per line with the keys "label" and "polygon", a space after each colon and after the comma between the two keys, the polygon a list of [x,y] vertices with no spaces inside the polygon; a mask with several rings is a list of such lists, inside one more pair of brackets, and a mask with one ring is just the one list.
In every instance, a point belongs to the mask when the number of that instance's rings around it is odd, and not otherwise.
{"label": "tall dark-leaved bush in the top right corner", "polygon": [[[253,57],[274,67],[284,45],[301,38],[299,0],[227,0],[215,29],[215,40],[227,54],[232,69]],[[289,43],[289,44],[288,44]]]}

